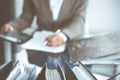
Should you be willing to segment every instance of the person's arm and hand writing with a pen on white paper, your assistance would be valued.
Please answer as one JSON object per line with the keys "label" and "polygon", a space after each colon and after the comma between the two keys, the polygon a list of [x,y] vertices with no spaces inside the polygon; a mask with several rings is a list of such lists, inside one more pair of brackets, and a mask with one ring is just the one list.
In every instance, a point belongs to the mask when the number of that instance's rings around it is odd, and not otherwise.
{"label": "person's arm and hand writing with a pen on white paper", "polygon": [[[75,12],[73,13],[74,15],[70,20],[64,22],[65,25],[62,25],[63,29],[62,32],[63,36],[60,34],[54,35],[54,36],[49,36],[46,38],[47,40],[47,45],[50,46],[59,46],[66,42],[67,37],[71,40],[74,39],[80,35],[84,34],[84,25],[85,25],[85,15],[86,15],[86,8],[87,8],[87,3],[88,0],[78,0],[75,5]],[[63,37],[66,37],[63,39]]]}

